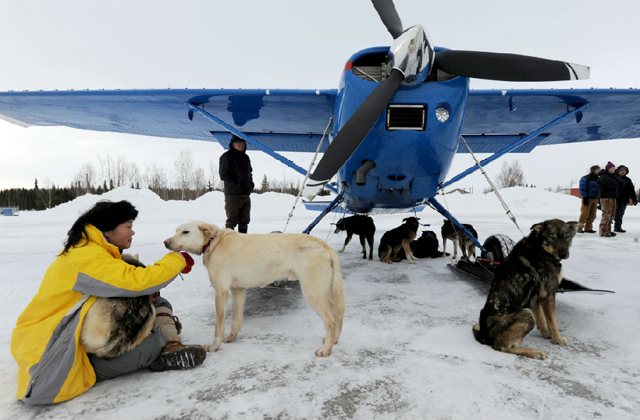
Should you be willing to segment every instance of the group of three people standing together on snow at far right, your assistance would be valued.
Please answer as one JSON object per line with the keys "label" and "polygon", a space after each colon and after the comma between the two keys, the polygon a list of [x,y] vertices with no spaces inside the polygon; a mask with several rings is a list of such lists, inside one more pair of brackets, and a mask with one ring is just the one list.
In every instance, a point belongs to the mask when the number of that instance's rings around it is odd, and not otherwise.
{"label": "group of three people standing together on snow at far right", "polygon": [[[624,165],[616,167],[613,163],[607,162],[604,171],[597,165],[590,168],[587,175],[580,178],[580,196],[582,205],[580,206],[581,223],[585,224],[584,230],[578,233],[595,233],[593,222],[597,209],[602,210],[598,233],[602,237],[614,237],[615,232],[624,233],[622,229],[622,217],[626,206],[631,200],[634,205],[638,204],[634,183],[627,176],[629,168]],[[611,231],[611,223],[614,222],[614,230]]]}

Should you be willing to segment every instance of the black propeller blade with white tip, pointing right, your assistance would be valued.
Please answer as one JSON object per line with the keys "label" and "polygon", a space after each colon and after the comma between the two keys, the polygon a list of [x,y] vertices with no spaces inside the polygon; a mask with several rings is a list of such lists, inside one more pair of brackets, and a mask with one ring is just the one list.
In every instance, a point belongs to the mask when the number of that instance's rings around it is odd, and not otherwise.
{"label": "black propeller blade with white tip, pointing right", "polygon": [[447,50],[435,54],[434,68],[450,75],[509,82],[588,79],[585,65],[528,55]]}

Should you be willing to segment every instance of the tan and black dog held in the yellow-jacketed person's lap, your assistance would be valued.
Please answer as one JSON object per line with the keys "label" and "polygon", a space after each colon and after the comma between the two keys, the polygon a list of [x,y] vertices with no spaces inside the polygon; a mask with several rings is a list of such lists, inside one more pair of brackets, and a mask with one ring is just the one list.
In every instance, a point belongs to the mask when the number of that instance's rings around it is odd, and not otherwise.
{"label": "tan and black dog held in the yellow-jacketed person's lap", "polygon": [[[144,267],[138,254],[122,254],[124,262]],[[80,331],[87,353],[113,359],[136,347],[151,332],[156,318],[152,296],[97,298]]]}

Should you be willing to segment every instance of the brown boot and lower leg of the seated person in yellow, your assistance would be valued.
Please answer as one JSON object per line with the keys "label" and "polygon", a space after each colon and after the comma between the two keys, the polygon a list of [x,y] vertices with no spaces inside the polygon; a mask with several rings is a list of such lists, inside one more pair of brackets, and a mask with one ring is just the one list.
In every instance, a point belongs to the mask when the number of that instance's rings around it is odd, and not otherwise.
{"label": "brown boot and lower leg of the seated person in yellow", "polygon": [[153,372],[191,369],[201,365],[207,357],[207,352],[201,345],[182,344],[178,336],[182,325],[169,308],[156,308],[154,328],[160,330],[167,341],[158,358],[149,366]]}

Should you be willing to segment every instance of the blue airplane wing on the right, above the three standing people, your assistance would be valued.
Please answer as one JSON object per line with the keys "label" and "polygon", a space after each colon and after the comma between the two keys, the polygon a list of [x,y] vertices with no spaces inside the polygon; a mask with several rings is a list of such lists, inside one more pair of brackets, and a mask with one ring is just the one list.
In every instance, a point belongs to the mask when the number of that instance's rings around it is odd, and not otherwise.
{"label": "blue airplane wing on the right, above the three standing people", "polygon": [[[590,106],[513,152],[640,137],[638,89],[471,90],[462,136],[474,153],[495,153],[583,104]],[[469,152],[462,141],[457,152]]]}

